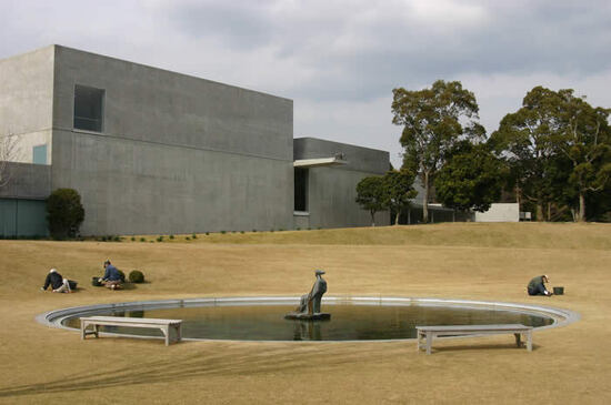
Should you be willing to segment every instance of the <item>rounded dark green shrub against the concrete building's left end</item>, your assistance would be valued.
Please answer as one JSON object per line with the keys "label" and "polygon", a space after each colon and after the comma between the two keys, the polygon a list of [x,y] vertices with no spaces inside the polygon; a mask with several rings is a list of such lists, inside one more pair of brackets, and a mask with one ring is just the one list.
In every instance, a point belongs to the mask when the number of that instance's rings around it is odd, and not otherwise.
{"label": "rounded dark green shrub against the concrete building's left end", "polygon": [[81,196],[73,189],[57,189],[47,200],[49,232],[56,239],[76,237],[84,220]]}

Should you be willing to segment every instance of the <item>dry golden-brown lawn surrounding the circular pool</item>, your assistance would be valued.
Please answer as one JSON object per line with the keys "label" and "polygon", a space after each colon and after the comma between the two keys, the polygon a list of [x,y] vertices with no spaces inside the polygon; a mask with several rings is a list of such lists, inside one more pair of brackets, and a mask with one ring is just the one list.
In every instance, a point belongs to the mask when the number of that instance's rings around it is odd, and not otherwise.
{"label": "dry golden-brown lawn surrounding the circular pool", "polygon": [[[0,241],[0,403],[609,403],[611,226],[444,224],[228,233],[164,243]],[[110,257],[150,283],[89,286]],[[74,294],[42,293],[57,266]],[[312,270],[329,295],[403,295],[543,303],[579,312],[537,332],[447,341],[431,356],[410,343],[182,343],[100,338],[33,321],[46,311],[153,298],[299,295]],[[528,297],[548,273],[565,295]]]}

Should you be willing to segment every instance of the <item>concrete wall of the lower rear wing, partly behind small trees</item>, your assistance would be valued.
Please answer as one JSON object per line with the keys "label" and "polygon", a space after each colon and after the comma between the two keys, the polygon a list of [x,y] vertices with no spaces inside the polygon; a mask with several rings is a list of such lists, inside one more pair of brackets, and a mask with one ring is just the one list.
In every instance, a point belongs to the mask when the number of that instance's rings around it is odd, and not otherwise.
{"label": "concrete wall of the lower rear wing, partly behind small trees", "polygon": [[[357,184],[370,175],[383,175],[390,166],[389,153],[314,138],[294,140],[294,159],[331,158],[343,153],[348,164],[309,169],[309,226],[351,227],[371,225],[371,216],[354,202]],[[388,211],[375,214],[375,225],[389,225]]]}

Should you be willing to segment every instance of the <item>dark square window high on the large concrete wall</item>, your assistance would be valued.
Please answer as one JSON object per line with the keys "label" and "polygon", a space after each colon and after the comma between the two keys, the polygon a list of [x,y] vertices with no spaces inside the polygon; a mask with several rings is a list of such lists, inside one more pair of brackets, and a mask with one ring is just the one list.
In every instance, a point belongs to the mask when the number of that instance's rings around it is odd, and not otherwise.
{"label": "dark square window high on the large concrete wall", "polygon": [[74,129],[102,132],[104,91],[74,87]]}

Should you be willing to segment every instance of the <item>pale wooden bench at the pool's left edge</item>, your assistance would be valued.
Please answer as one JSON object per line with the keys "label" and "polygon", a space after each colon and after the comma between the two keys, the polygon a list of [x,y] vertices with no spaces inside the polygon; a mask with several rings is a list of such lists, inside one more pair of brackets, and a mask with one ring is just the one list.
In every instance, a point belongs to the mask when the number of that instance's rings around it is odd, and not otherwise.
{"label": "pale wooden bench at the pool's left edge", "polygon": [[[88,326],[93,326],[88,331]],[[170,332],[176,331],[176,341],[182,338],[182,320],[157,320],[149,317],[84,316],[81,317],[81,340],[87,335],[99,337],[100,326],[148,327],[160,330],[166,336],[166,346],[170,344]]]}

